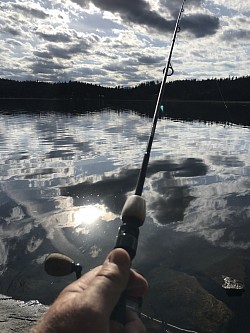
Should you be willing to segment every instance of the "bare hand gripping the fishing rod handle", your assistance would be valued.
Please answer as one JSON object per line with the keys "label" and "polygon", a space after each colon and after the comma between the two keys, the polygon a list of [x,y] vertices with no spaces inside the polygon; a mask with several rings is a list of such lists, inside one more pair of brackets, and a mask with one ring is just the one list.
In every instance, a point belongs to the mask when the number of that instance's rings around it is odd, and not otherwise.
{"label": "bare hand gripping the fishing rod handle", "polygon": [[[115,249],[102,266],[96,267],[68,285],[58,296],[33,333],[110,333],[110,315],[120,295],[142,297],[147,281],[130,269],[130,258]],[[127,310],[124,333],[144,333],[138,315]]]}

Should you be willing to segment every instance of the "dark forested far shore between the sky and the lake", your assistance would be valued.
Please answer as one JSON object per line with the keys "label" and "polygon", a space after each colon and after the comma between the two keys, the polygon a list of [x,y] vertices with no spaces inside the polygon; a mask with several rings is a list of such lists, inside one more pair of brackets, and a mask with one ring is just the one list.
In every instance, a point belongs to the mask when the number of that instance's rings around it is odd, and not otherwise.
{"label": "dark forested far shore between the sky and the lake", "polygon": [[[0,98],[64,98],[105,100],[152,100],[159,92],[160,83],[151,81],[127,88],[102,87],[83,82],[38,82],[0,79]],[[181,80],[168,82],[168,100],[249,101],[250,76],[226,79]]]}

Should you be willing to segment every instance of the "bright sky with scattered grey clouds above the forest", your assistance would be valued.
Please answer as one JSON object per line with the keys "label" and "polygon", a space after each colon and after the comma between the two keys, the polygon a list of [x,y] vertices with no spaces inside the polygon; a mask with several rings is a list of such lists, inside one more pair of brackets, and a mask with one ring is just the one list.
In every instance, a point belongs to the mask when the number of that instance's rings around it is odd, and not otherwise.
{"label": "bright sky with scattered grey clouds above the forest", "polygon": [[[0,78],[160,81],[182,0],[0,2]],[[249,75],[250,2],[186,0],[170,80]]]}

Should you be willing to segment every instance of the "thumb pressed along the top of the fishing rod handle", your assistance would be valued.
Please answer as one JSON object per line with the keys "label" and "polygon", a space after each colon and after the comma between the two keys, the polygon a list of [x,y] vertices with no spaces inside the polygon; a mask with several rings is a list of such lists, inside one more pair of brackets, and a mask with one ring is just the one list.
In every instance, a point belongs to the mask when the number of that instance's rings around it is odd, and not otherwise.
{"label": "thumb pressed along the top of the fishing rod handle", "polygon": [[[88,292],[98,300],[98,310],[110,317],[130,275],[130,257],[123,249],[114,249],[92,281]],[[97,306],[97,304],[96,304]]]}

